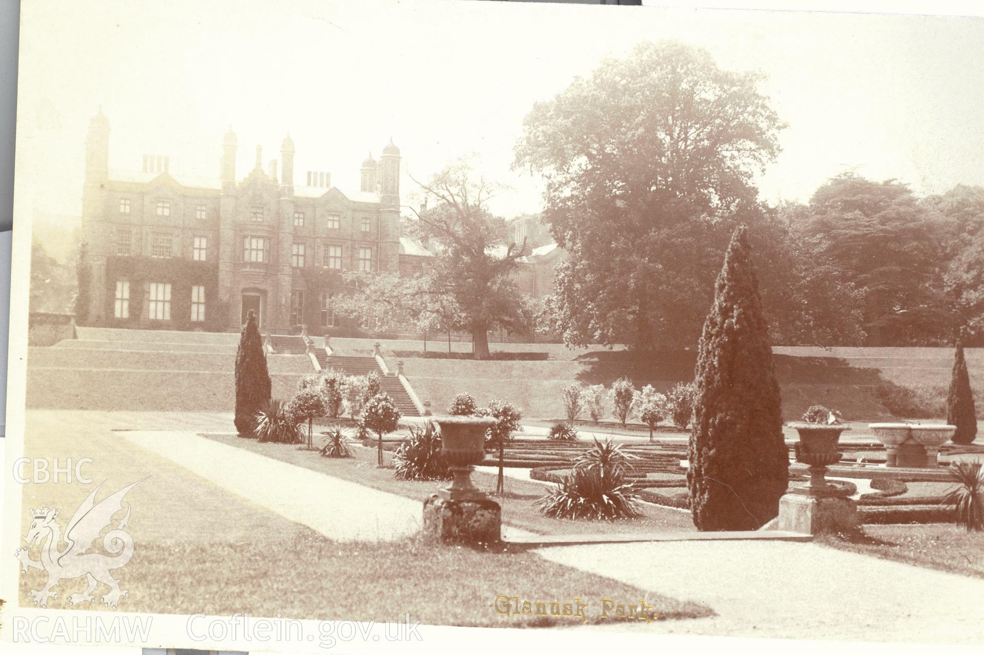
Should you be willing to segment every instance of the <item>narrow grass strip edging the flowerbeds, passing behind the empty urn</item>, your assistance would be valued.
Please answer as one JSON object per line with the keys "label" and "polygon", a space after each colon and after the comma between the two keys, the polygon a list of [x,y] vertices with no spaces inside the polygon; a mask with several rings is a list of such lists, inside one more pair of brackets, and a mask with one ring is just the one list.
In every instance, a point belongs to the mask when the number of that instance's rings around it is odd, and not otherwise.
{"label": "narrow grass strip edging the flowerbeds, passing behind the empty urn", "polygon": [[[203,434],[203,437],[215,439],[229,446],[248,448],[254,452],[274,457],[280,461],[303,466],[333,475],[343,480],[357,482],[366,487],[397,494],[405,498],[419,500],[421,503],[429,495],[448,483],[440,481],[397,480],[392,468],[376,467],[375,447],[352,446],[352,459],[332,459],[322,457],[317,452],[304,450],[297,446],[283,444],[260,444],[252,439],[240,439],[228,434]],[[384,451],[384,457],[389,466],[392,452]],[[481,490],[493,491],[496,478],[494,475],[475,472],[471,475],[472,483]],[[523,528],[540,534],[597,534],[612,532],[650,533],[650,532],[679,532],[694,530],[694,522],[690,513],[667,507],[641,505],[643,515],[639,518],[619,521],[583,521],[548,518],[539,513],[535,502],[541,498],[548,487],[539,482],[526,482],[506,478],[506,496],[494,497],[502,506],[504,523]]]}

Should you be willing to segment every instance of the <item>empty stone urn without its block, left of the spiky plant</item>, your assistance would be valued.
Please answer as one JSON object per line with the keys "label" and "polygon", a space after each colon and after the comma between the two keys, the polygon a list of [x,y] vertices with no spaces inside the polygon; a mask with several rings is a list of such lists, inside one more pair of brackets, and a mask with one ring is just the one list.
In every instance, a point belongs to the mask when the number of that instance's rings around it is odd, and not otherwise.
{"label": "empty stone urn without its block, left of the spiky plant", "polygon": [[485,494],[471,484],[473,465],[485,458],[485,431],[495,425],[491,416],[435,416],[441,431],[441,457],[451,469],[450,487],[438,490],[446,501],[479,501]]}

